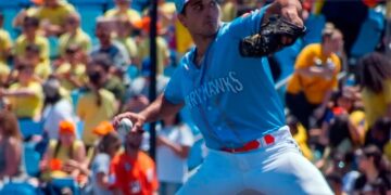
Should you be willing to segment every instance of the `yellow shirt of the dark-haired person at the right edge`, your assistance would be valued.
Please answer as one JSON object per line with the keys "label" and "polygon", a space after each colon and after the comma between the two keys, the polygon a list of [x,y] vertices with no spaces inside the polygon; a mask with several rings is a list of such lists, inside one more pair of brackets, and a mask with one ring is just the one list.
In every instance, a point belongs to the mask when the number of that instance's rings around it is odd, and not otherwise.
{"label": "yellow shirt of the dark-haired person at the right edge", "polygon": [[371,127],[378,118],[386,116],[387,106],[391,104],[391,79],[384,81],[380,93],[364,88],[362,99],[368,126]]}

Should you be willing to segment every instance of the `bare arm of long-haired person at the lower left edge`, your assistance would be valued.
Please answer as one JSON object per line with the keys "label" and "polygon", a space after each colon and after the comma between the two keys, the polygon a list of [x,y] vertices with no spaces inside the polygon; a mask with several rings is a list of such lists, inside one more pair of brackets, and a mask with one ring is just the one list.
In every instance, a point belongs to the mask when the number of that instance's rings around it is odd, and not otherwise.
{"label": "bare arm of long-haired person at the lower left edge", "polygon": [[21,144],[14,139],[11,139],[7,144],[8,147],[5,147],[5,169],[0,172],[0,179],[5,176],[15,176],[22,162]]}

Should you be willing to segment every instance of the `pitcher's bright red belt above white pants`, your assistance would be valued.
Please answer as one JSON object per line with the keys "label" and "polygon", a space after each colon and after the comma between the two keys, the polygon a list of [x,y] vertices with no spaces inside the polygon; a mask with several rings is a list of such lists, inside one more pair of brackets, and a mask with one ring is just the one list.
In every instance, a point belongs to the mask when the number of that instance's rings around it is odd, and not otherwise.
{"label": "pitcher's bright red belt above white pants", "polygon": [[223,147],[222,151],[228,153],[244,153],[244,152],[257,150],[262,146],[272,145],[274,143],[275,143],[275,136],[273,136],[272,134],[266,134],[261,139],[245,143],[242,147],[237,147],[237,148]]}

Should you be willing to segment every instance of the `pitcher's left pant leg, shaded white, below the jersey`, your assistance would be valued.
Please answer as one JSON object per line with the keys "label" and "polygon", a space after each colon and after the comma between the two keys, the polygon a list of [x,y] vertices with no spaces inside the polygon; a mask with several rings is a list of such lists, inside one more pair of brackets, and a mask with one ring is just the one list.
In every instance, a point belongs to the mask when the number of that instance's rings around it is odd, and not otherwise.
{"label": "pitcher's left pant leg, shaded white, below the jersey", "polygon": [[230,195],[243,187],[235,156],[210,151],[204,162],[177,193],[178,195]]}

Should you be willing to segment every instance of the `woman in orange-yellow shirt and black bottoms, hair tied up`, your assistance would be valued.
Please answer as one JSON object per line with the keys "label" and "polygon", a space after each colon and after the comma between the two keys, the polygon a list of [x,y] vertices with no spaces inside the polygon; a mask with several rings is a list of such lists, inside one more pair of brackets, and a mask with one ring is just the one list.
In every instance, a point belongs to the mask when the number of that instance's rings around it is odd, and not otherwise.
{"label": "woman in orange-yellow shirt and black bottoms, hair tied up", "polygon": [[338,88],[341,62],[336,52],[341,44],[342,34],[332,27],[325,28],[321,43],[305,47],[297,58],[286,101],[291,114],[306,129],[311,127],[311,116],[323,118],[332,91]]}

